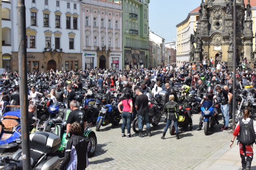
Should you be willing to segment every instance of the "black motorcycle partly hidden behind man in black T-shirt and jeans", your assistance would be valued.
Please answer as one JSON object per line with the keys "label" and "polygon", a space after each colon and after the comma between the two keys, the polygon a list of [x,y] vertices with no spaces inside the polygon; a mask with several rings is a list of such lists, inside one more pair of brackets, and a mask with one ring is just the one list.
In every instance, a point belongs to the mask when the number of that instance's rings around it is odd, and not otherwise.
{"label": "black motorcycle partly hidden behind man in black T-shirt and jeans", "polygon": [[[153,126],[157,126],[158,123],[160,122],[161,116],[163,114],[163,100],[156,101],[155,98],[153,97],[152,94],[145,92],[145,95],[148,97],[148,107],[149,107],[149,113],[148,113],[148,118],[149,118],[149,123],[151,123]],[[161,95],[160,95],[161,96]],[[162,96],[161,96],[162,98]],[[144,123],[142,123],[142,126]],[[139,133],[139,121],[138,121],[138,115],[132,122],[132,130],[135,133]]]}

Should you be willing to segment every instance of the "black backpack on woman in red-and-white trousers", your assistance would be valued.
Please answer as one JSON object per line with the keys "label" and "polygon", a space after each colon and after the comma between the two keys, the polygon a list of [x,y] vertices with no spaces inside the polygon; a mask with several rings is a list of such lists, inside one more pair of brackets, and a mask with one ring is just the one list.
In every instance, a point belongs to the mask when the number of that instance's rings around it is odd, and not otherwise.
{"label": "black backpack on woman in red-and-white trousers", "polygon": [[239,126],[240,131],[237,137],[238,141],[242,145],[253,145],[253,143],[256,143],[256,135],[253,129],[253,119],[251,119],[247,124],[243,123],[242,120],[240,120]]}

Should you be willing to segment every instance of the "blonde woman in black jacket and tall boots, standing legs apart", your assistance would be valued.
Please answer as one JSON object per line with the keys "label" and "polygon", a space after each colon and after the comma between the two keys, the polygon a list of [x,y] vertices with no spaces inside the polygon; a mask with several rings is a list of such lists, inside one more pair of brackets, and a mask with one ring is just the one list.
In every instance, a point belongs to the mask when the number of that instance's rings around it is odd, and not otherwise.
{"label": "blonde woman in black jacket and tall boots, standing legs apart", "polygon": [[176,133],[176,139],[180,139],[179,137],[179,131],[178,131],[178,120],[177,120],[177,110],[179,109],[179,105],[174,102],[174,96],[169,96],[170,101],[165,104],[165,107],[163,108],[163,112],[167,113],[167,122],[165,126],[165,130],[163,131],[163,136],[161,139],[165,139],[166,131],[168,130],[169,126],[171,125],[172,121],[174,121],[174,127],[175,127],[175,133]]}

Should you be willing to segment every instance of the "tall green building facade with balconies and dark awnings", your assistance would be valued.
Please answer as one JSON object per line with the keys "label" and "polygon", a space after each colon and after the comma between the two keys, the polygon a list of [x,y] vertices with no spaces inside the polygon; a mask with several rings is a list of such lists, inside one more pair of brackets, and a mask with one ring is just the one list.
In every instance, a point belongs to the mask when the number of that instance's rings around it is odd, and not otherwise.
{"label": "tall green building facade with balconies and dark awnings", "polygon": [[[114,0],[118,1],[118,0]],[[148,67],[148,4],[150,0],[123,0],[123,68]]]}

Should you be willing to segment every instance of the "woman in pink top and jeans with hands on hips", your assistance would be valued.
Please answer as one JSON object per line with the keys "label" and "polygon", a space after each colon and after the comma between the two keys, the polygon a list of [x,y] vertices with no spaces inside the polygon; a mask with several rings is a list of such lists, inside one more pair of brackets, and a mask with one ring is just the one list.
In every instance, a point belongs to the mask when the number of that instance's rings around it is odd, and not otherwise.
{"label": "woman in pink top and jeans with hands on hips", "polygon": [[[123,111],[121,111],[120,106],[123,105]],[[122,137],[125,137],[125,126],[127,124],[127,137],[133,137],[131,135],[131,119],[133,105],[131,100],[131,95],[129,92],[125,93],[124,99],[117,105],[118,111],[122,114],[123,125],[122,125]]]}

